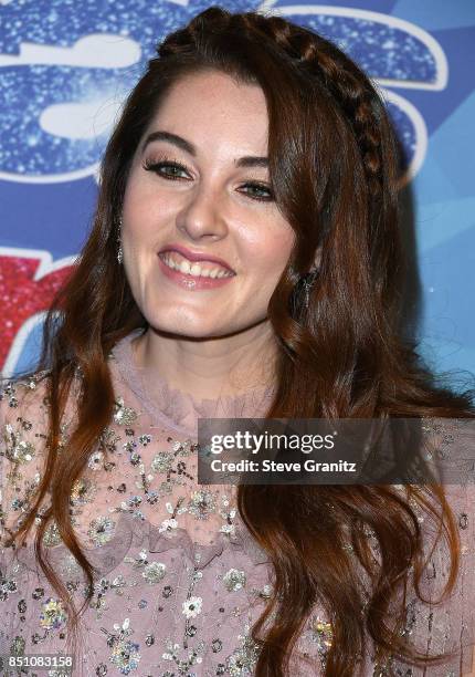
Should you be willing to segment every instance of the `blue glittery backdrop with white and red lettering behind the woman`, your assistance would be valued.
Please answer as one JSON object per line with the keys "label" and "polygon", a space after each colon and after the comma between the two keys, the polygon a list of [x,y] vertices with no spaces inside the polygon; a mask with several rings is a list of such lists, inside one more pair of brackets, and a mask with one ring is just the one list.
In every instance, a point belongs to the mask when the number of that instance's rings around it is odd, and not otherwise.
{"label": "blue glittery backdrop with white and red lettering behind the woman", "polygon": [[[44,311],[88,232],[96,171],[155,44],[211,2],[0,0],[0,368],[34,363]],[[407,164],[415,330],[437,371],[475,372],[475,4],[257,4],[336,41],[374,80]],[[472,66],[469,66],[472,63]]]}

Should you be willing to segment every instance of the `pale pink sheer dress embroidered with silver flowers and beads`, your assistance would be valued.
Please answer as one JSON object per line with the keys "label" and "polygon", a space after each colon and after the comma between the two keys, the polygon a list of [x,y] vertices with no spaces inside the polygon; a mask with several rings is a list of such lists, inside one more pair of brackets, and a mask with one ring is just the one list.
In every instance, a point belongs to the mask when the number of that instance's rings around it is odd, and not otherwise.
{"label": "pale pink sheer dress embroidered with silver flowers and beads", "polygon": [[[75,532],[96,567],[94,595],[81,616],[73,668],[56,663],[48,669],[30,667],[20,673],[9,667],[6,658],[66,656],[72,648],[66,610],[35,562],[32,532],[25,546],[4,544],[8,528],[22,520],[43,472],[49,406],[45,381],[39,374],[30,382],[3,386],[1,674],[254,675],[258,645],[250,629],[272,596],[273,570],[236,510],[236,487],[198,485],[197,423],[199,417],[263,416],[272,392],[254,389],[241,397],[197,403],[163,381],[151,379],[135,364],[131,342],[139,334],[137,330],[123,338],[109,356],[115,413],[71,496]],[[75,381],[78,386],[80,377]],[[62,424],[61,454],[67,454],[74,402],[73,392]],[[444,434],[443,421],[441,426],[428,420],[426,430],[428,445],[450,449],[451,445],[468,444],[463,426],[455,435],[451,433],[452,438]],[[473,483],[447,489],[462,541],[457,586],[442,606],[423,605],[415,595],[409,596],[403,632],[430,654],[456,650],[458,656],[428,671],[408,671],[411,668],[394,662],[400,670],[397,674],[408,677],[465,675],[472,666],[475,492]],[[429,522],[423,527],[431,530]],[[86,580],[54,523],[44,544],[49,561],[80,608]],[[431,559],[424,590],[436,594],[446,571],[446,553],[440,549]],[[328,615],[316,605],[293,652],[292,677],[323,675],[331,642]],[[370,642],[368,646],[360,663],[355,658],[355,674],[387,674],[373,659]]]}

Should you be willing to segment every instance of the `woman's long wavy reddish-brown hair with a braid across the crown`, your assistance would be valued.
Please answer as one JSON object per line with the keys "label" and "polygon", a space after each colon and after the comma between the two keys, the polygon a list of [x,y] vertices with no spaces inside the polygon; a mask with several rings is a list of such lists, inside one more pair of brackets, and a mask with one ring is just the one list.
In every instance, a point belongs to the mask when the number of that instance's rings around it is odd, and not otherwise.
{"label": "woman's long wavy reddish-brown hair with a braid across the crown", "polygon": [[[159,45],[129,95],[102,164],[92,232],[44,324],[40,369],[49,375],[48,462],[36,502],[15,537],[30,529],[50,490],[51,508],[38,529],[35,550],[70,612],[67,592],[42,554],[42,537],[54,519],[85,572],[88,602],[93,569],[70,522],[70,496],[113,415],[107,355],[130,331],[147,326],[116,261],[117,218],[127,175],[170,86],[203,69],[218,69],[262,87],[268,110],[272,186],[296,232],[268,305],[278,360],[277,389],[267,416],[475,416],[471,393],[456,394],[437,383],[415,346],[399,335],[404,275],[399,155],[380,94],[351,60],[321,37],[283,18],[210,8]],[[298,279],[312,268],[320,247],[318,278],[305,308]],[[77,426],[68,454],[59,455],[61,418],[76,371],[82,375]],[[257,677],[284,674],[317,600],[331,617],[327,676],[352,673],[366,633],[381,662],[390,654],[423,659],[398,632],[403,600],[399,615],[391,607],[411,571],[418,590],[424,565],[424,534],[409,498],[434,514],[436,507],[442,508],[452,553],[448,593],[456,579],[458,543],[442,487],[409,486],[405,500],[391,486],[240,486],[241,515],[275,570],[275,596],[253,628],[262,648]],[[368,539],[356,524],[376,534],[380,562],[369,556]],[[348,534],[352,554],[346,546]],[[371,581],[367,600],[356,585],[355,555]],[[80,612],[75,613],[68,614],[73,626]]]}

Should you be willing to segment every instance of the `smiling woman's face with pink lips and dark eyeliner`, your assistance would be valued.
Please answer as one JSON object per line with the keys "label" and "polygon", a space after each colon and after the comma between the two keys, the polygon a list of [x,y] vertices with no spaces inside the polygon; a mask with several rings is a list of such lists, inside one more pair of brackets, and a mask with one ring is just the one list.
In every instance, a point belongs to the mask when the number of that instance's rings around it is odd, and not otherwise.
{"label": "smiling woman's face with pink lips and dark eyeliner", "polygon": [[134,157],[124,265],[151,327],[223,336],[266,319],[294,231],[270,188],[262,90],[218,71],[169,91]]}

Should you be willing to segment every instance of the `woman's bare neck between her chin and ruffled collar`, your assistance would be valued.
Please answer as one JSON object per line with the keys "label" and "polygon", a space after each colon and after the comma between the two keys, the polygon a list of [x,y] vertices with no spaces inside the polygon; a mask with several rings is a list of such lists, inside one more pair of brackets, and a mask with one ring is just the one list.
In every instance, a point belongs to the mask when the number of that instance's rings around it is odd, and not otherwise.
{"label": "woman's bare neck between her chin and ruffled collar", "polygon": [[131,343],[135,363],[194,399],[238,396],[273,385],[275,337],[268,321],[245,332],[187,338],[148,327]]}

